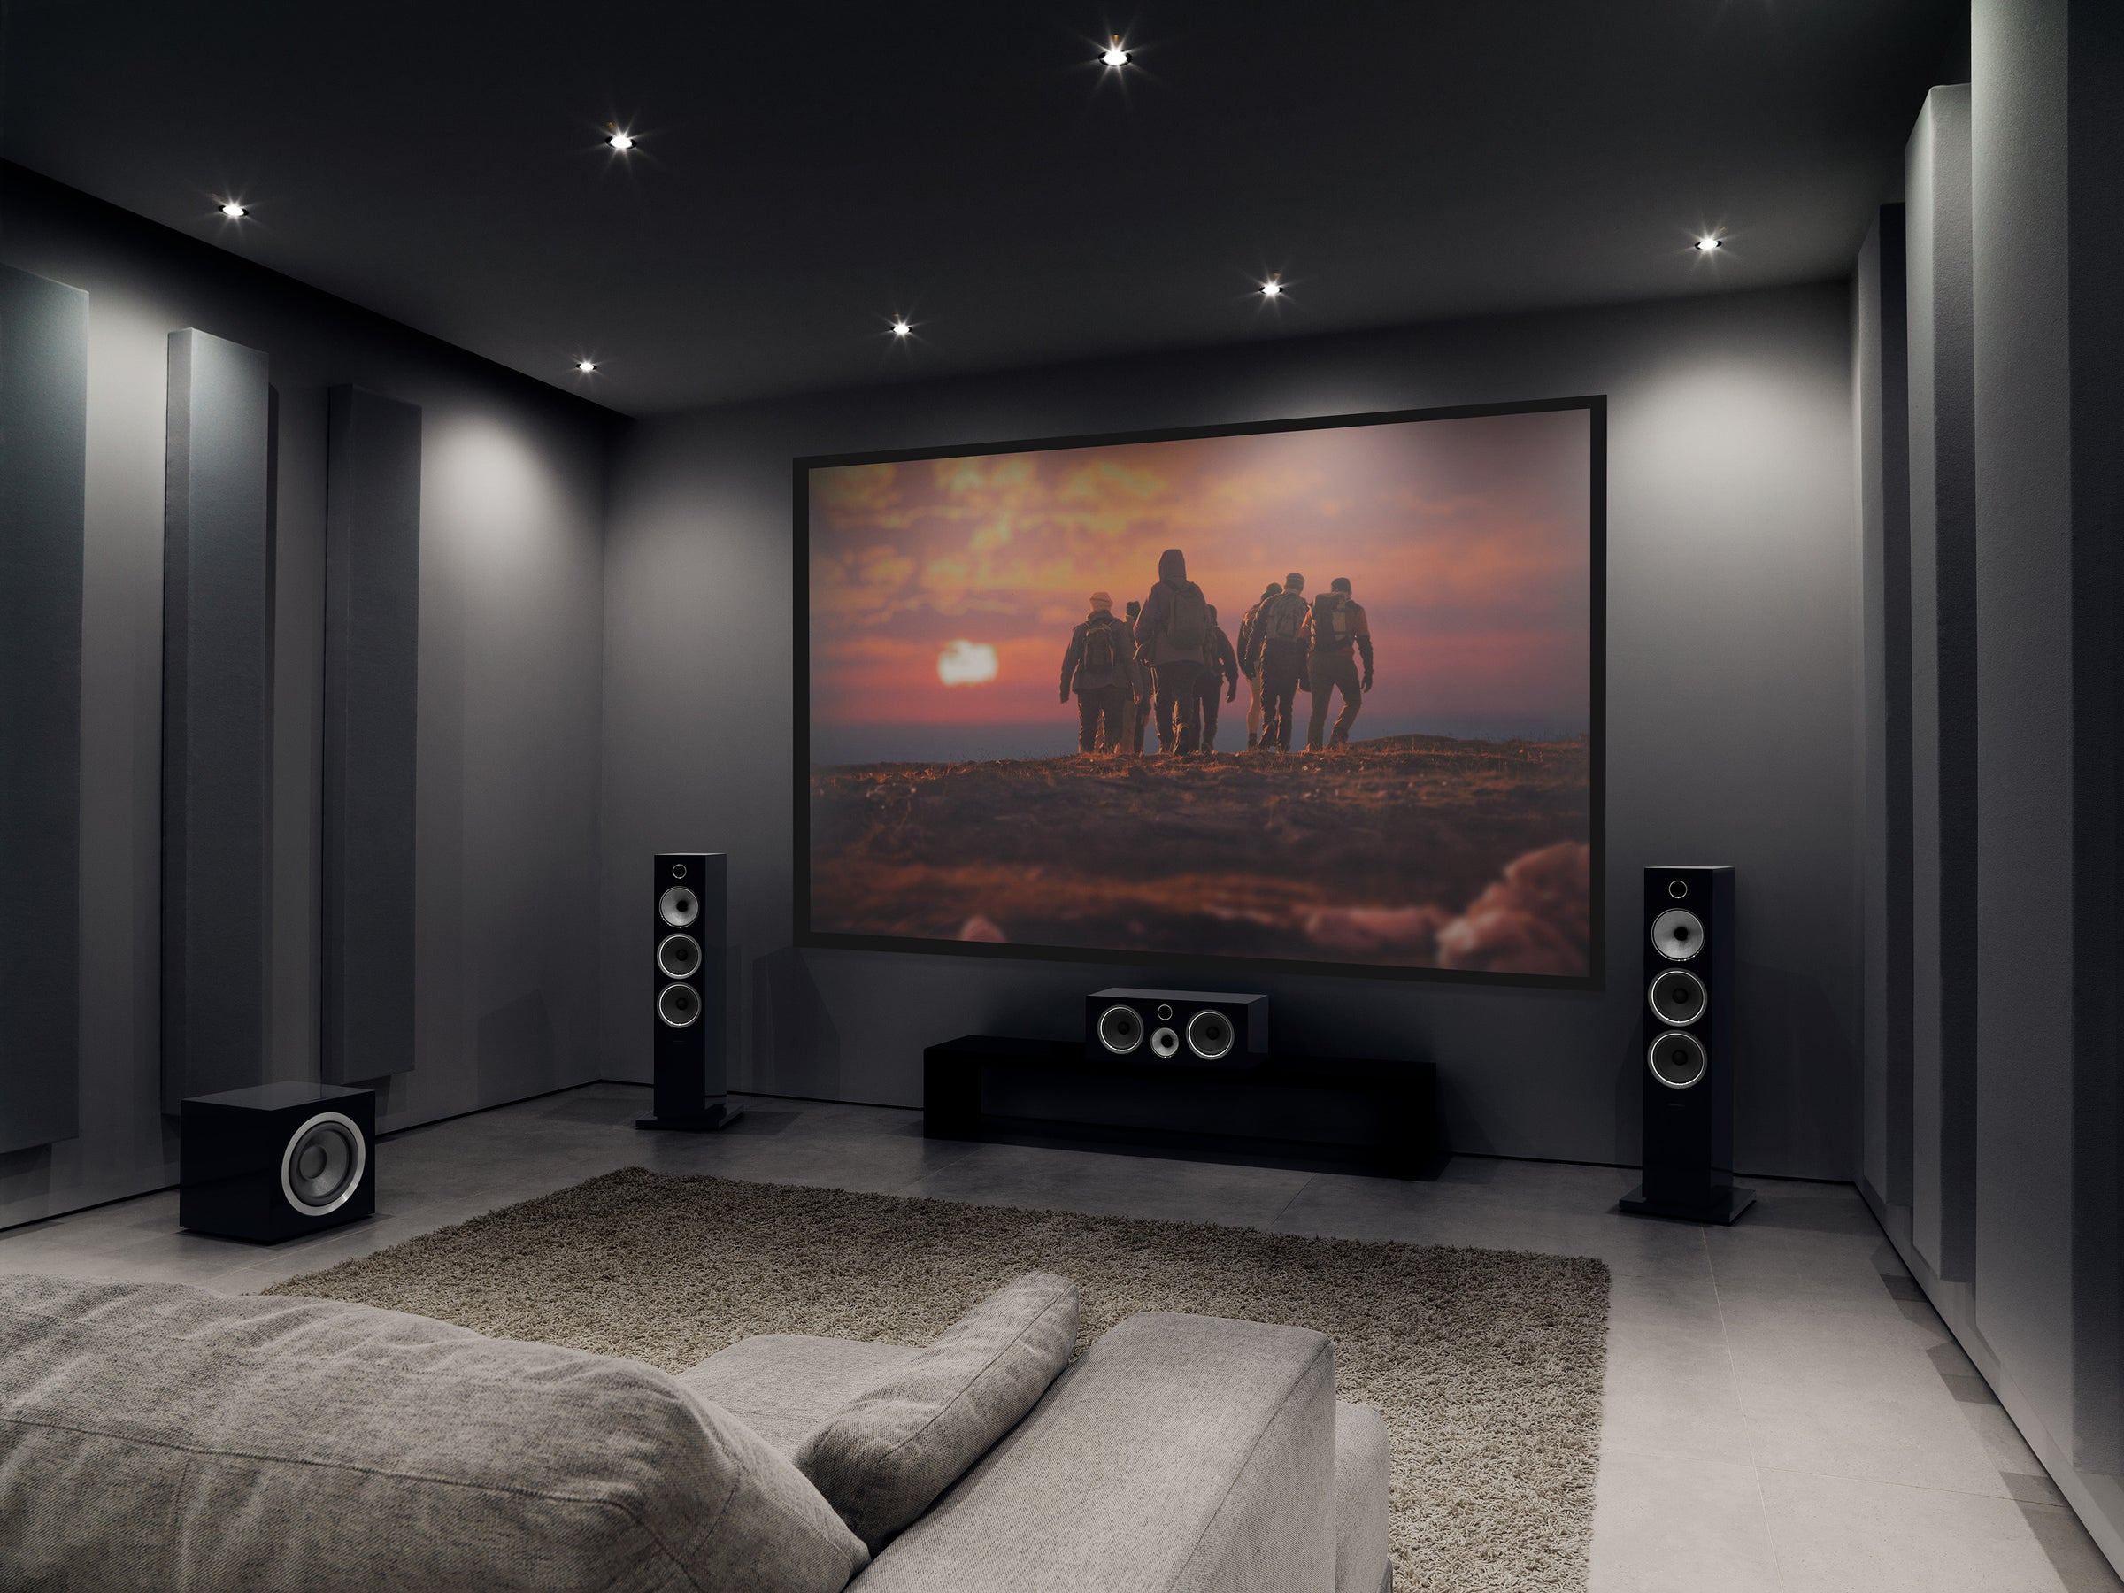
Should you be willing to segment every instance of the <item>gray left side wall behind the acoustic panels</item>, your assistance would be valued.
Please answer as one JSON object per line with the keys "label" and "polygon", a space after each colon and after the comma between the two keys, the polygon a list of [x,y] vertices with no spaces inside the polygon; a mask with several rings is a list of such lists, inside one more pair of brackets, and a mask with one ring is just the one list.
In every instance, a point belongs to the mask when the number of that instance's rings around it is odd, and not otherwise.
{"label": "gray left side wall behind the acoustic panels", "polygon": [[601,516],[612,416],[0,166],[0,257],[89,293],[81,1136],[0,1155],[0,1223],[161,1187],[164,363],[176,327],[278,393],[268,1077],[314,1079],[325,391],[423,408],[418,1068],[404,1128],[595,1079]]}

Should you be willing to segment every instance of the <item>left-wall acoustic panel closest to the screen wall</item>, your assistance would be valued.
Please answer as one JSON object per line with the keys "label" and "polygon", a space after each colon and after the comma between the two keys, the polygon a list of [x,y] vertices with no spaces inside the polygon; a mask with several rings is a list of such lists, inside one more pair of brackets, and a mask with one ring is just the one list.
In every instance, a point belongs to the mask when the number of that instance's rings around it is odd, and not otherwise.
{"label": "left-wall acoustic panel closest to the screen wall", "polygon": [[327,1083],[414,1064],[421,408],[336,387],[325,508]]}

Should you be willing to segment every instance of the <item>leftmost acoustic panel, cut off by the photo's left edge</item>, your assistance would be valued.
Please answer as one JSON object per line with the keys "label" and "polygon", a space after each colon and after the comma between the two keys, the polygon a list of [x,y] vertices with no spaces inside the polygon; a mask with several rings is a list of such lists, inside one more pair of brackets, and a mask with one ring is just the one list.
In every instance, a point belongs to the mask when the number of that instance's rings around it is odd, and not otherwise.
{"label": "leftmost acoustic panel, cut off by the photo's left edge", "polygon": [[89,295],[0,266],[0,1151],[81,1132]]}

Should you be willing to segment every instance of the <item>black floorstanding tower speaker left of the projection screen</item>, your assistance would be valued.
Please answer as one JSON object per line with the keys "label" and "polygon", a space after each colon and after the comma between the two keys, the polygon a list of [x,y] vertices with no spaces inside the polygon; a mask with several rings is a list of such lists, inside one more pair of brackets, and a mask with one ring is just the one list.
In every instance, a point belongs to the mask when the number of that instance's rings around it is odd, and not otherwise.
{"label": "black floorstanding tower speaker left of the projection screen", "polygon": [[635,1128],[726,1128],[731,1011],[729,864],[722,852],[661,852],[650,884],[654,1117]]}

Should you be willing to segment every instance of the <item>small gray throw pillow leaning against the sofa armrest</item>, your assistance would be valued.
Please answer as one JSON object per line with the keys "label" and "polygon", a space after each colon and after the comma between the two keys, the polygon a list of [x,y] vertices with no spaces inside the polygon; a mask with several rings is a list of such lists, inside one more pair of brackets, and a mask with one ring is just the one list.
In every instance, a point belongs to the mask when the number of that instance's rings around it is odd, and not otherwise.
{"label": "small gray throw pillow leaning against the sofa armrest", "polygon": [[1077,1285],[1007,1283],[796,1449],[796,1470],[875,1553],[1054,1383],[1077,1347]]}

